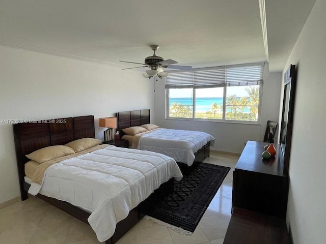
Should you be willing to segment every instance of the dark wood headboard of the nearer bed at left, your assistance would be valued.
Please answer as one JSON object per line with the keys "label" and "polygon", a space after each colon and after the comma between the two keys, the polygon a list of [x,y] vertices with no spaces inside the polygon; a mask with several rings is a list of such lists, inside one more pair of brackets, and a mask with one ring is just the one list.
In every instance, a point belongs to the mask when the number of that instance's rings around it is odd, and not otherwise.
{"label": "dark wood headboard of the nearer bed at left", "polygon": [[[36,123],[34,123],[36,122]],[[24,191],[26,154],[52,145],[63,145],[80,138],[95,138],[94,116],[44,119],[13,125],[21,197]]]}

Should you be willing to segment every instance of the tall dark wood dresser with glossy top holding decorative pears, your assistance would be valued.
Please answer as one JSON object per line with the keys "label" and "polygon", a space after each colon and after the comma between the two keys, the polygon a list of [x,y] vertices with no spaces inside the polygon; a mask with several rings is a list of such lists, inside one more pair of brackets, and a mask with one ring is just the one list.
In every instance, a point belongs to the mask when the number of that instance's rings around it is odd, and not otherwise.
{"label": "tall dark wood dresser with glossy top holding decorative pears", "polygon": [[266,142],[248,141],[233,171],[232,208],[240,207],[285,218],[288,176],[277,154],[265,160],[261,154]]}

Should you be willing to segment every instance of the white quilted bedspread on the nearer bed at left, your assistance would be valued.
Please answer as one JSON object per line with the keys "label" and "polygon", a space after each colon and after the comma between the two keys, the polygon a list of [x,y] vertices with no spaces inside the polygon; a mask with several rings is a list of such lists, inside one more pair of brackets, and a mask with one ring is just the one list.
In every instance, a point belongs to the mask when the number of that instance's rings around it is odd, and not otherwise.
{"label": "white quilted bedspread on the nearer bed at left", "polygon": [[99,241],[110,238],[116,223],[162,183],[182,178],[174,159],[151,151],[108,146],[61,161],[46,171],[42,185],[29,192],[67,201],[91,212]]}

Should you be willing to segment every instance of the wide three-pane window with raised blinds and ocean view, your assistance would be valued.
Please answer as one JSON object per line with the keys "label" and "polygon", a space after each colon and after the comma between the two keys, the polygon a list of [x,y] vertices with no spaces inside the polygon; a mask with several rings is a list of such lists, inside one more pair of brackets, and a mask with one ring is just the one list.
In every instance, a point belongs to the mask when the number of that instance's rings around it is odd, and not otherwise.
{"label": "wide three-pane window with raised blinds and ocean view", "polygon": [[166,78],[168,118],[260,121],[263,64],[173,72]]}

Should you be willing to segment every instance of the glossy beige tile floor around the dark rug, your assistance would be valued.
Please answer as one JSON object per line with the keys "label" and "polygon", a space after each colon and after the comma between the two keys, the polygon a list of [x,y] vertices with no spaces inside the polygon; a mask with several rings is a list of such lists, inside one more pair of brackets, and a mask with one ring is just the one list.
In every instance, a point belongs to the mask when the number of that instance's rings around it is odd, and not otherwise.
{"label": "glossy beige tile floor around the dark rug", "polygon": [[[204,162],[231,167],[192,235],[142,219],[117,244],[222,244],[231,215],[232,171],[238,156],[211,153]],[[0,209],[0,243],[99,243],[91,227],[32,197]]]}

